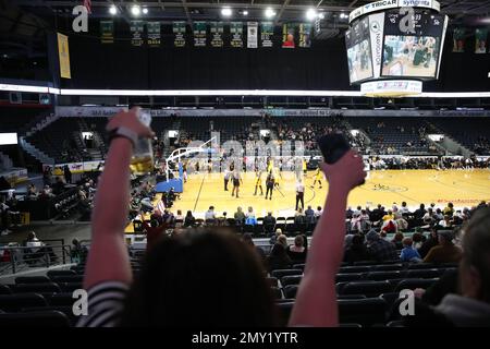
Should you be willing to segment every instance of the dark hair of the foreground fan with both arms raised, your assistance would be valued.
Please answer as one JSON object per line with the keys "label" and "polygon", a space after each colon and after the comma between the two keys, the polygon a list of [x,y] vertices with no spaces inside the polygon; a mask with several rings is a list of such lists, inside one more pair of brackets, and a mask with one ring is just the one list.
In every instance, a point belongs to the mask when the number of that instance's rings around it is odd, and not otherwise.
{"label": "dark hair of the foreground fan with both arms raised", "polygon": [[145,257],[121,325],[273,326],[273,297],[257,255],[233,233],[187,230]]}

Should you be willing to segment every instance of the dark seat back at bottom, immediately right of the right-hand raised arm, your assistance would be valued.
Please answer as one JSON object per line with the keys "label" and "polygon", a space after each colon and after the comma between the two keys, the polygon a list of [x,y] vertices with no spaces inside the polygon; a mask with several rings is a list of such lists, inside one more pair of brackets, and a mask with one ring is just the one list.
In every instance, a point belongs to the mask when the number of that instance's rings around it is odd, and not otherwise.
{"label": "dark seat back at bottom, immediately right of the right-hand raised arm", "polygon": [[341,323],[358,323],[363,326],[385,323],[387,302],[380,298],[341,299],[338,304]]}

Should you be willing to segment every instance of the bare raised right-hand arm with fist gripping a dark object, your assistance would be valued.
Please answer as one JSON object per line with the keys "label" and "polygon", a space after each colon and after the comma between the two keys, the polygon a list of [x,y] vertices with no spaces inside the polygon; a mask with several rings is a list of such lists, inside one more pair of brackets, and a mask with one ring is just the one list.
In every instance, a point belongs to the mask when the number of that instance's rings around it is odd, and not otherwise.
{"label": "bare raised right-hand arm with fist gripping a dark object", "polygon": [[335,275],[343,256],[345,207],[350,191],[366,177],[363,158],[347,152],[333,165],[321,165],[329,181],[324,209],[315,228],[305,275],[290,326],[338,326]]}

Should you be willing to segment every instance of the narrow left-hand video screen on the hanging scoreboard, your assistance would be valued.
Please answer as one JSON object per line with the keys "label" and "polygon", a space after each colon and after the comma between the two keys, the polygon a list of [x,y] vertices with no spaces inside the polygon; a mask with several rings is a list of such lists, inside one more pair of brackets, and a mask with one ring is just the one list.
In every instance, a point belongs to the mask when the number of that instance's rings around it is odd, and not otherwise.
{"label": "narrow left-hand video screen on the hanging scoreboard", "polygon": [[351,84],[373,77],[368,17],[345,33]]}

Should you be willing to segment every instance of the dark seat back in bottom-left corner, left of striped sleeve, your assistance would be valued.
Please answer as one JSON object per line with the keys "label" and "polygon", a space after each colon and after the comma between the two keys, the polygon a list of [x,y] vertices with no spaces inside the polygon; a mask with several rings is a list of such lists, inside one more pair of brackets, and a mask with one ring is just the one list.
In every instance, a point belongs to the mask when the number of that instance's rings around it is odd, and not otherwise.
{"label": "dark seat back in bottom-left corner, left of striped sleeve", "polygon": [[0,314],[0,327],[70,327],[69,317],[59,311]]}

